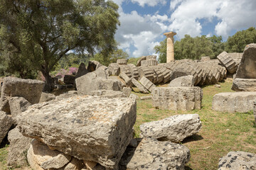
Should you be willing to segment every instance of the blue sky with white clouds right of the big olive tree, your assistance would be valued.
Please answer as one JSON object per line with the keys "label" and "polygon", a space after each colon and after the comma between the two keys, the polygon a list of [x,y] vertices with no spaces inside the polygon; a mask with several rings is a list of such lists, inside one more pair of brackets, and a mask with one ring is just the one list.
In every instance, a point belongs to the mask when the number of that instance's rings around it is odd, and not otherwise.
{"label": "blue sky with white clouds right of the big olive tree", "polygon": [[188,34],[221,35],[256,27],[256,0],[113,0],[119,5],[121,26],[115,34],[130,57],[155,55],[163,35],[175,31],[175,40]]}

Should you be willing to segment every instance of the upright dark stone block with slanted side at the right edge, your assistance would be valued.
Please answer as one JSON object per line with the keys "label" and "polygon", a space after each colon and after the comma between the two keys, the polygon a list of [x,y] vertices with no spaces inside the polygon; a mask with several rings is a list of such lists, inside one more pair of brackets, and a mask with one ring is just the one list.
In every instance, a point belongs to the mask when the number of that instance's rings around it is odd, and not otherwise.
{"label": "upright dark stone block with slanted side at the right edge", "polygon": [[235,78],[256,79],[256,44],[245,46]]}

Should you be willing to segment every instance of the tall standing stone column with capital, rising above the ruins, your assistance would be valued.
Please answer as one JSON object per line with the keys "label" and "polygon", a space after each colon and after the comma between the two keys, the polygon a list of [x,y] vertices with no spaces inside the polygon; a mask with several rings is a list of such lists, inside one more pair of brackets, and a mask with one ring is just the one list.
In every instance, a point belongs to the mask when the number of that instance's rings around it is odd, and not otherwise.
{"label": "tall standing stone column with capital, rising above the ruins", "polygon": [[164,33],[167,37],[166,63],[174,61],[174,35],[175,32]]}

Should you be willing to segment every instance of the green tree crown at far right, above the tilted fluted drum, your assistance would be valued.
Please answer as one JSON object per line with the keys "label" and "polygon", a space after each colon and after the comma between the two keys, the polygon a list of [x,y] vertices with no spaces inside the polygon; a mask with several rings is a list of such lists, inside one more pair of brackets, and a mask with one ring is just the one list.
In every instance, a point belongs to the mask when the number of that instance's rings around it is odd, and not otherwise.
{"label": "green tree crown at far right, above the tilted fluted drum", "polygon": [[225,51],[243,52],[245,45],[250,43],[256,43],[256,30],[254,27],[238,31],[235,35],[229,37],[225,45]]}

